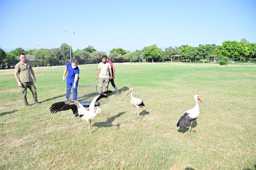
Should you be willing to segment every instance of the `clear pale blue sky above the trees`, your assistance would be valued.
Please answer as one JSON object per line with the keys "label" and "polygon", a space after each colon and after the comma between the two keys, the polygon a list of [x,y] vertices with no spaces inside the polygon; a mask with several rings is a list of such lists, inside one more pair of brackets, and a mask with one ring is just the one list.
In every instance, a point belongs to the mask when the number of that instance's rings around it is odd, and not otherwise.
{"label": "clear pale blue sky above the trees", "polygon": [[188,44],[256,43],[256,0],[0,1],[0,47],[97,51]]}

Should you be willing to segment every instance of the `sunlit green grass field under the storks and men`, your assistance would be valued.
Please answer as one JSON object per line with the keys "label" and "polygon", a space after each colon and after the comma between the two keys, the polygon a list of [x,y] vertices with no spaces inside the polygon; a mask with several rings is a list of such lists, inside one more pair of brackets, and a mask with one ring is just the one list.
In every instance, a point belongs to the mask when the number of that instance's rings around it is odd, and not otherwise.
{"label": "sunlit green grass field under the storks and men", "polygon": [[[34,68],[41,106],[25,107],[14,70],[0,71],[0,169],[254,170],[256,67],[217,64],[114,64],[121,95],[101,99],[103,119],[78,123],[71,110],[51,114],[63,101],[64,66]],[[79,85],[97,84],[97,64],[80,68]],[[141,98],[140,124],[132,122],[129,88]],[[109,90],[114,90],[110,85]],[[197,132],[176,123],[195,105]],[[33,97],[28,90],[28,102]]]}

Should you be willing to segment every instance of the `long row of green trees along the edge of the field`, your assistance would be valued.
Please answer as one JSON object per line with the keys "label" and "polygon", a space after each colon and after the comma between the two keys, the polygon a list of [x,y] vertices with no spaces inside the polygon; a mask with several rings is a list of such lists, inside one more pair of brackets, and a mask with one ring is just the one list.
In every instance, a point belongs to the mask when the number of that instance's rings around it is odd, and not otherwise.
{"label": "long row of green trees along the edge of the field", "polygon": [[[93,46],[88,46],[83,50],[72,50],[71,58],[77,59],[79,64],[92,64],[101,62],[101,56],[107,55],[103,51],[97,51]],[[13,68],[20,61],[18,54],[25,53],[26,59],[33,67],[38,66],[58,66],[70,62],[70,46],[61,44],[60,48],[24,50],[17,48],[10,52],[5,52],[0,48],[1,68]],[[185,61],[209,60],[212,55],[220,60],[220,64],[226,65],[229,60],[246,59],[248,62],[256,58],[256,43],[250,43],[246,38],[238,41],[224,41],[221,46],[216,44],[199,44],[192,47],[188,44],[180,47],[168,47],[163,51],[156,44],[144,47],[134,52],[126,51],[122,48],[112,49],[109,58],[112,62],[161,62],[170,61],[171,56],[180,55]],[[172,59],[177,59],[173,57]]]}

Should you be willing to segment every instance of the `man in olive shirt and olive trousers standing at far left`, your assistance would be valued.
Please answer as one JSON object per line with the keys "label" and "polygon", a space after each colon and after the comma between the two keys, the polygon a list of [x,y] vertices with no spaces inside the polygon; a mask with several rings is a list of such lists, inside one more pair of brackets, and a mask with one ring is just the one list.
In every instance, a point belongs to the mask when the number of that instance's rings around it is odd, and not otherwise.
{"label": "man in olive shirt and olive trousers standing at far left", "polygon": [[[22,87],[22,99],[25,103],[26,107],[30,107],[27,101],[27,88],[32,92],[35,104],[40,105],[37,100],[36,87],[34,82],[36,82],[36,76],[34,70],[32,69],[31,63],[26,60],[26,56],[24,53],[19,53],[20,62],[16,64],[14,77],[17,80],[18,86]],[[19,78],[17,74],[19,73]],[[34,82],[31,77],[31,74],[34,77]]]}

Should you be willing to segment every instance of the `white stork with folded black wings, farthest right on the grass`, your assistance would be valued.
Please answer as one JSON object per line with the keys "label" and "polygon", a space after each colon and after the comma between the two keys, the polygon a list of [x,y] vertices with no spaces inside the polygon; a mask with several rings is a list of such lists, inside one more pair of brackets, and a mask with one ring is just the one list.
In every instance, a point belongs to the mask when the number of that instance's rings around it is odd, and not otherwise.
{"label": "white stork with folded black wings, farthest right on the grass", "polygon": [[199,116],[199,105],[198,105],[198,101],[199,100],[201,103],[202,103],[202,100],[199,98],[199,96],[197,94],[195,94],[194,96],[194,99],[195,99],[195,107],[193,107],[192,109],[189,109],[187,111],[185,111],[180,120],[178,121],[176,127],[179,127],[179,128],[185,128],[189,122],[190,123],[190,127],[187,127],[189,128],[189,138],[190,138],[190,131],[191,129],[193,129],[194,131],[196,131],[195,128],[191,128],[191,125],[192,125],[192,122],[198,118]]}

